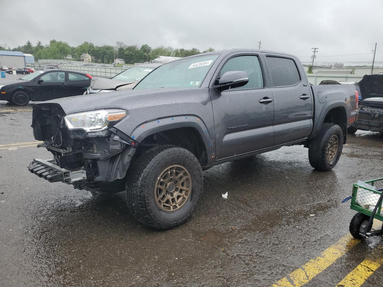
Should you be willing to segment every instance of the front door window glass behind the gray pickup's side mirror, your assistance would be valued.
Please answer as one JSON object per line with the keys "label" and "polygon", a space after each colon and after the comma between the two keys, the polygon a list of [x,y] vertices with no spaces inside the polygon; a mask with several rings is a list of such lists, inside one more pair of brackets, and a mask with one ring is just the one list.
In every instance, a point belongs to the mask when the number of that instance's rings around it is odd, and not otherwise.
{"label": "front door window glass behind the gray pickup's side mirror", "polygon": [[229,71],[245,71],[249,76],[249,82],[241,87],[230,90],[259,89],[264,87],[262,69],[257,56],[244,55],[231,58],[221,70],[221,76]]}

